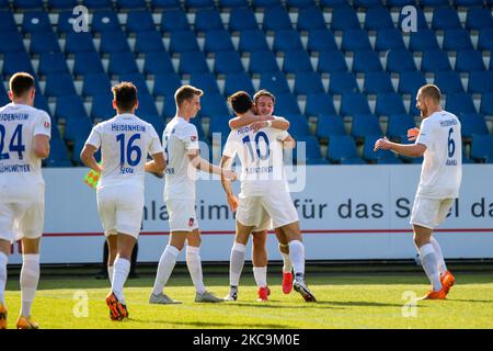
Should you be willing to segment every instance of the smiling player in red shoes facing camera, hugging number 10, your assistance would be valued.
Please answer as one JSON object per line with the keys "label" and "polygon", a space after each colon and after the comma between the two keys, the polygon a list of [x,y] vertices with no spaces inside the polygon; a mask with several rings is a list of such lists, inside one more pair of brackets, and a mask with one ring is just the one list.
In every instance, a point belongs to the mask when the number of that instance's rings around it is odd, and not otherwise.
{"label": "smiling player in red shoes facing camera, hugging number 10", "polygon": [[[243,94],[243,93],[242,93]],[[241,114],[231,118],[229,121],[229,126],[232,129],[251,125],[252,128],[257,132],[261,127],[266,127],[271,123],[273,128],[280,131],[287,131],[289,128],[289,122],[283,117],[273,117],[275,98],[274,95],[266,91],[260,90],[255,93],[253,98],[253,111],[249,111],[245,114]],[[257,114],[254,114],[257,113]],[[271,122],[268,122],[271,121]],[[294,143],[293,143],[294,146]],[[226,158],[221,159],[222,162]],[[228,184],[222,182],[225,190]],[[234,194],[227,192],[227,200],[230,208],[237,211],[238,199]],[[260,302],[268,301],[268,295],[271,290],[267,286],[267,250],[265,247],[267,229],[271,228],[271,217],[267,212],[263,211],[263,218],[261,220],[261,226],[252,229],[252,262],[253,262],[253,275],[257,284],[259,298]],[[283,257],[283,292],[289,294],[293,290],[293,273],[291,263],[289,260],[289,247],[285,237],[282,235],[282,229],[275,229],[277,239],[279,240],[279,251]],[[236,237],[233,247],[231,248],[230,256],[230,291],[225,297],[228,301],[236,301],[238,298],[238,285],[240,281],[241,271],[243,269],[244,256],[245,256],[245,245],[249,237]]]}

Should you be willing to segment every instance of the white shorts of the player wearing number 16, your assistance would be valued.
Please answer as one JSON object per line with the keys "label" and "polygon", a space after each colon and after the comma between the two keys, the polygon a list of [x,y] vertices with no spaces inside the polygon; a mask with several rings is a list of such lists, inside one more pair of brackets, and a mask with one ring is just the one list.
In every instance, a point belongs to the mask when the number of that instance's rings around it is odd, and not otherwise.
{"label": "white shorts of the player wearing number 16", "polygon": [[139,236],[142,226],[144,190],[136,186],[110,186],[98,190],[98,212],[104,235]]}

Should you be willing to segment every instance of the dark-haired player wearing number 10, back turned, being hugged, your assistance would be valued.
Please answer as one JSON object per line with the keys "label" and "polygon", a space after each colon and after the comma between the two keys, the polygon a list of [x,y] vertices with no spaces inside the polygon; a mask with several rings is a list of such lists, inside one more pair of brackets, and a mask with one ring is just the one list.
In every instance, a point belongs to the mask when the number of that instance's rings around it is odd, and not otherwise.
{"label": "dark-haired player wearing number 10, back turned, being hugged", "polygon": [[[233,94],[229,102],[239,115],[253,106],[245,92]],[[242,165],[237,238],[248,238],[253,228],[260,227],[265,210],[272,218],[273,227],[282,229],[280,233],[289,245],[289,259],[295,271],[294,288],[305,301],[314,302],[313,294],[305,284],[305,246],[301,242],[298,213],[284,174],[283,144],[294,144],[294,139],[286,131],[272,128],[272,123],[267,123],[267,127],[259,132],[251,126],[231,131],[222,151],[223,165],[230,165],[237,155]],[[225,190],[228,197],[231,197],[231,188],[226,184]]]}

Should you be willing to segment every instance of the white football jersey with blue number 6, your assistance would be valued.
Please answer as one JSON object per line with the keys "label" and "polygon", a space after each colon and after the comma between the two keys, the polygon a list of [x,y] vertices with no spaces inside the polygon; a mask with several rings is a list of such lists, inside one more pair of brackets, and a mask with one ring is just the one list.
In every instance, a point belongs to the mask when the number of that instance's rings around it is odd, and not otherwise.
{"label": "white football jersey with blue number 6", "polygon": [[462,138],[457,116],[440,111],[424,118],[416,144],[426,146],[417,195],[431,199],[459,197]]}

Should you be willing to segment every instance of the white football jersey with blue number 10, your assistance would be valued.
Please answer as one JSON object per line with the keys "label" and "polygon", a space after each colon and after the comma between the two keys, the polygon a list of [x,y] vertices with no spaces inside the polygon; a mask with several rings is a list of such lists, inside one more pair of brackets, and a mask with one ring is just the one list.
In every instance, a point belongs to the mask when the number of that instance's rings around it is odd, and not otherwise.
{"label": "white football jersey with blue number 10", "polygon": [[287,190],[282,141],[288,136],[286,131],[272,127],[256,133],[250,126],[231,131],[222,155],[230,158],[238,155],[240,159],[240,197]]}

